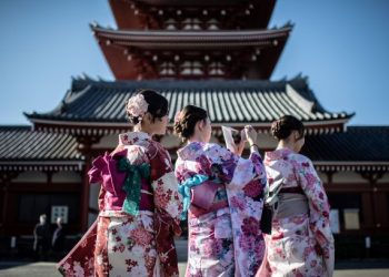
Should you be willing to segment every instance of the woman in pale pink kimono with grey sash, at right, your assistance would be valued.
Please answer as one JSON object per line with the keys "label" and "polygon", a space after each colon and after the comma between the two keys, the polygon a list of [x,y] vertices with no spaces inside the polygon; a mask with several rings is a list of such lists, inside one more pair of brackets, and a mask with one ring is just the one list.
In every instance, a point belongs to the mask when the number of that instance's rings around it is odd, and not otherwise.
{"label": "woman in pale pink kimono with grey sash, at right", "polygon": [[333,237],[327,195],[312,162],[298,152],[305,143],[303,124],[286,115],[271,125],[279,141],[267,152],[269,189],[277,192],[267,255],[257,276],[332,276]]}

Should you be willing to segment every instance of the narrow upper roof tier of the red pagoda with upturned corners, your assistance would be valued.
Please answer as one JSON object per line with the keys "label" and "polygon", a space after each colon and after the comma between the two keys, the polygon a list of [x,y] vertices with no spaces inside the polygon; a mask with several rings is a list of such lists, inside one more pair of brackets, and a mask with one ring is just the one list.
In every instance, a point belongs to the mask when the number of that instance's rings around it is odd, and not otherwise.
{"label": "narrow upper roof tier of the red pagoda with upturned corners", "polygon": [[[142,49],[198,49],[275,47],[287,40],[292,29],[287,24],[278,29],[232,31],[132,31],[113,30],[91,24],[96,37],[109,44]],[[277,42],[276,42],[277,41]]]}

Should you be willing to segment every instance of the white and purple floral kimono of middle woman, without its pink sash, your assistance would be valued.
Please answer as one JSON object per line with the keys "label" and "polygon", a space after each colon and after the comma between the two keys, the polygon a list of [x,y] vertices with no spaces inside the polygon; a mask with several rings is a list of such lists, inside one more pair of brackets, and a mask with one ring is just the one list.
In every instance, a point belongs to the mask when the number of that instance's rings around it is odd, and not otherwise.
{"label": "white and purple floral kimono of middle woman, without its pink sash", "polygon": [[265,252],[260,218],[266,173],[259,154],[245,160],[218,144],[193,142],[178,156],[180,183],[196,174],[217,178],[229,204],[199,217],[189,213],[187,276],[253,276]]}

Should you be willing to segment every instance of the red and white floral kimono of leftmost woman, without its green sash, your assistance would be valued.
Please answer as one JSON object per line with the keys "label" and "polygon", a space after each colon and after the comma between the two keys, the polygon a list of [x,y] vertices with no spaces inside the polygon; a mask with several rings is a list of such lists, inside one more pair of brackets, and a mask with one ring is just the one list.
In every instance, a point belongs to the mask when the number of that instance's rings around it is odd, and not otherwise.
{"label": "red and white floral kimono of leftmost woman, without its green sash", "polygon": [[[131,164],[150,164],[150,181],[142,179],[141,186],[146,199],[141,199],[141,206],[146,205],[147,211],[139,211],[137,216],[121,211],[126,192],[119,188],[124,176],[113,170],[114,157],[122,157],[123,153]],[[82,248],[82,255],[76,255],[81,240],[59,267],[88,257],[98,276],[178,276],[173,236],[181,233],[182,204],[169,153],[162,145],[146,133],[121,134],[118,148],[111,155],[98,157],[89,174],[91,183],[102,184],[98,224],[88,230],[88,248]],[[78,276],[93,276],[84,269],[83,274],[79,270]]]}

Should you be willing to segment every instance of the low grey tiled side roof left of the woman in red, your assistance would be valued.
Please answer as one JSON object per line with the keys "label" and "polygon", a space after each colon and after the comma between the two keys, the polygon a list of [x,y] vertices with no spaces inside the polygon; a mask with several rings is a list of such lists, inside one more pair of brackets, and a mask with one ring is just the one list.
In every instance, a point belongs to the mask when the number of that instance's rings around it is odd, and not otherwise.
{"label": "low grey tiled side roof left of the woman in red", "polygon": [[69,134],[0,126],[0,171],[81,171],[82,156]]}

